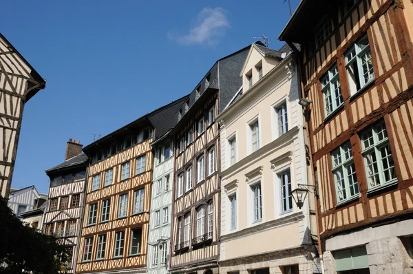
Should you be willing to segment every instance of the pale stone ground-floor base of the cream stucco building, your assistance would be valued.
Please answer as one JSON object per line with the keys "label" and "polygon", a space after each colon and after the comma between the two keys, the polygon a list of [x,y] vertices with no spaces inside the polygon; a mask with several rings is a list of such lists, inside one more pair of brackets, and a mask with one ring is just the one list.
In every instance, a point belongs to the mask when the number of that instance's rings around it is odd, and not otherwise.
{"label": "pale stone ground-floor base of the cream stucco building", "polygon": [[313,274],[321,265],[313,246],[275,251],[220,261],[220,273],[240,274]]}

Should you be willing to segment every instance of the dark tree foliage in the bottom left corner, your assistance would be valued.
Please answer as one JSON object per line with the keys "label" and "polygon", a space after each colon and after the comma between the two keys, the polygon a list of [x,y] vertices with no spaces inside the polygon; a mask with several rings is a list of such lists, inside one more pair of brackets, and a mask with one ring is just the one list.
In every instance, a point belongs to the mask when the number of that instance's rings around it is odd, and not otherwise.
{"label": "dark tree foliage in the bottom left corner", "polygon": [[0,197],[0,273],[64,273],[68,260],[65,246],[23,225]]}

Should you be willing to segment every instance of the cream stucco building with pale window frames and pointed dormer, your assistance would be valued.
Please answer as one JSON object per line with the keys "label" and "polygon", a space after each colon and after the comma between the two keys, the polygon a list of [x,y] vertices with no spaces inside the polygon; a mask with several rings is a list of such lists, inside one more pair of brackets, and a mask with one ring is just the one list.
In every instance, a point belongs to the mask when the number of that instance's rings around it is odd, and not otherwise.
{"label": "cream stucco building with pale window frames and pointed dormer", "polygon": [[309,203],[298,209],[289,196],[309,185],[293,58],[252,45],[241,76],[242,95],[217,117],[220,273],[313,273]]}

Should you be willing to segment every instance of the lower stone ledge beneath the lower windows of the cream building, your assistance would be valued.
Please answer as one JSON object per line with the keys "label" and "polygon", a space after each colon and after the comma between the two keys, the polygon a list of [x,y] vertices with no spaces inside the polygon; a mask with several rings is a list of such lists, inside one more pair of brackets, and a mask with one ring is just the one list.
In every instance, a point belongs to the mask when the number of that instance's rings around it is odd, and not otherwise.
{"label": "lower stone ledge beneath the lower windows of the cream building", "polygon": [[243,238],[247,235],[253,235],[255,233],[260,233],[268,229],[273,229],[277,226],[284,226],[286,224],[292,224],[294,222],[299,222],[299,220],[303,220],[303,219],[304,219],[304,213],[302,211],[299,211],[297,213],[293,213],[283,218],[272,220],[270,222],[264,222],[264,224],[258,224],[256,226],[251,226],[246,229],[242,229],[241,231],[236,231],[231,234],[222,235],[220,237],[220,242],[228,242],[230,240]]}

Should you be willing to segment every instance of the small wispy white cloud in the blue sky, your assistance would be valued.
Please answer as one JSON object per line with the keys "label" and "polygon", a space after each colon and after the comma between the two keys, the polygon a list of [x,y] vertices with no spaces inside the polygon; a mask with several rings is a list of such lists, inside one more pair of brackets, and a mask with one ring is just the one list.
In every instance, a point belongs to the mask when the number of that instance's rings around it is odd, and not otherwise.
{"label": "small wispy white cloud in the blue sky", "polygon": [[223,8],[203,8],[188,34],[168,36],[184,45],[216,45],[226,28],[229,21]]}

